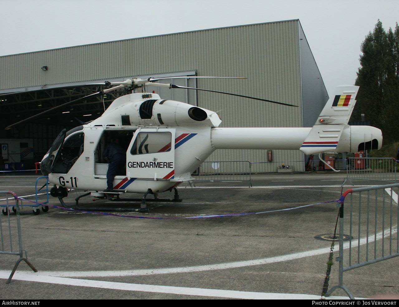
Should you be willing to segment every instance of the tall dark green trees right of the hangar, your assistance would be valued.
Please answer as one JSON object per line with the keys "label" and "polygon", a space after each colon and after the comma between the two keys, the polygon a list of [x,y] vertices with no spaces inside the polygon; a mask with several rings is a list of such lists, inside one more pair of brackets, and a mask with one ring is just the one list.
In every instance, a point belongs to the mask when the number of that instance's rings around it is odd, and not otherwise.
{"label": "tall dark green trees right of the hangar", "polygon": [[378,20],[361,44],[360,65],[355,85],[358,104],[351,121],[360,114],[383,131],[384,143],[399,140],[399,26],[385,31]]}

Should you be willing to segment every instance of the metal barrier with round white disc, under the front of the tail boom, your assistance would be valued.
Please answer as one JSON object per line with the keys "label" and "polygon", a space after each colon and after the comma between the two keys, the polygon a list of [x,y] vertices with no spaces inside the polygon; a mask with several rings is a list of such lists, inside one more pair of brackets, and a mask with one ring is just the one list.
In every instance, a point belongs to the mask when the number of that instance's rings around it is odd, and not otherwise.
{"label": "metal barrier with round white disc, under the front of the tail boom", "polygon": [[251,162],[249,161],[209,161],[199,167],[196,180],[206,181],[249,181],[252,186]]}

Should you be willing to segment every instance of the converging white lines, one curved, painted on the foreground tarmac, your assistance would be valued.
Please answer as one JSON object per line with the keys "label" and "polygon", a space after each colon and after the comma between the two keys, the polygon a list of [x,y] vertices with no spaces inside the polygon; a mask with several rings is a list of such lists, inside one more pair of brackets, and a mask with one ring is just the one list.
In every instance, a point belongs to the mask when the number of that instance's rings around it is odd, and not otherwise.
{"label": "converging white lines, one curved, painted on the foreground tarmac", "polygon": [[[380,232],[377,236],[369,236],[360,240],[360,245],[366,242],[370,243],[373,240],[379,240],[383,236],[397,232],[397,226],[385,232]],[[358,246],[358,242],[352,242],[352,247]],[[349,242],[344,244],[344,248],[349,248]],[[265,259],[258,259],[252,261],[239,261],[231,263],[221,263],[217,265],[201,265],[197,267],[182,267],[170,269],[150,269],[150,270],[136,270],[136,271],[102,271],[102,272],[17,272],[14,274],[13,279],[22,281],[36,281],[41,283],[55,283],[59,285],[74,285],[81,287],[93,287],[102,289],[116,289],[125,291],[142,291],[152,293],[169,293],[179,295],[196,295],[205,297],[226,297],[235,299],[320,299],[318,295],[307,294],[288,294],[288,293],[263,293],[263,292],[245,292],[245,291],[231,291],[221,289],[203,289],[203,288],[187,288],[187,287],[170,287],[162,285],[142,285],[134,283],[119,283],[111,281],[99,281],[88,279],[75,279],[63,276],[94,276],[94,277],[110,277],[110,276],[131,276],[131,275],[149,275],[149,274],[162,274],[162,273],[181,273],[193,271],[207,271],[211,269],[228,269],[232,267],[243,267],[248,265],[260,265],[265,263],[273,263],[279,261],[286,261],[291,259],[298,259],[307,256],[314,256],[319,254],[326,254],[330,252],[330,248],[322,248],[318,250],[284,255],[280,257],[271,257]],[[7,279],[9,271],[0,271],[0,278]],[[58,275],[58,276],[55,276]],[[326,299],[348,299],[348,297],[327,297]]]}

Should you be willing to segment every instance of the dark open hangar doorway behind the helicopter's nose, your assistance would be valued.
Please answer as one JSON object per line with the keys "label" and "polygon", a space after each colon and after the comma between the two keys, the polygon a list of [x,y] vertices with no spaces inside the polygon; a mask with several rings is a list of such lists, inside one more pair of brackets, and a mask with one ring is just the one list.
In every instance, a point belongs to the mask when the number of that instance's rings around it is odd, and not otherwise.
{"label": "dark open hangar doorway behind the helicopter's nose", "polygon": [[104,105],[107,108],[122,93],[107,94],[104,101],[102,97],[97,97],[81,101],[75,105],[60,107],[16,125],[9,130],[5,130],[5,128],[18,121],[28,119],[33,115],[100,90],[98,86],[68,87],[2,95],[0,98],[0,112],[2,114],[0,139],[32,139],[34,156],[26,161],[25,169],[34,169],[34,163],[41,160],[62,129],[69,130],[99,117],[104,112]]}

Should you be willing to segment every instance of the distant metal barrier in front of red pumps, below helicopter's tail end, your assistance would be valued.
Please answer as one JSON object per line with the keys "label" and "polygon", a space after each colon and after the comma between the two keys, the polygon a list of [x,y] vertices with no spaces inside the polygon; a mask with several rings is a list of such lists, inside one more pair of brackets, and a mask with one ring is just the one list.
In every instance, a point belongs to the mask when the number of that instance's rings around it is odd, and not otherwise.
{"label": "distant metal barrier in front of red pumps, below helicopter's tail end", "polygon": [[346,179],[398,182],[393,158],[348,158]]}

